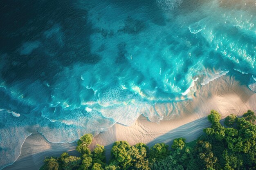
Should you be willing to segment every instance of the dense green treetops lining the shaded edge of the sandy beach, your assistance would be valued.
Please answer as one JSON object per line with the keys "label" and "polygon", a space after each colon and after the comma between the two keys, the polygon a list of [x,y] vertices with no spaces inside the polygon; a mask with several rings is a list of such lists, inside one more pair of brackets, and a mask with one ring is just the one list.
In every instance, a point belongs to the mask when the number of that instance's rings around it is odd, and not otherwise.
{"label": "dense green treetops lining the shaded edge of the sandy beach", "polygon": [[225,126],[221,115],[212,110],[208,116],[211,128],[196,141],[174,139],[171,149],[164,143],[150,149],[139,143],[130,146],[117,141],[106,163],[105,149],[97,145],[93,152],[88,148],[92,135],[86,134],[77,142],[80,157],[47,157],[42,170],[256,170],[256,116],[248,110],[243,117],[229,115]]}

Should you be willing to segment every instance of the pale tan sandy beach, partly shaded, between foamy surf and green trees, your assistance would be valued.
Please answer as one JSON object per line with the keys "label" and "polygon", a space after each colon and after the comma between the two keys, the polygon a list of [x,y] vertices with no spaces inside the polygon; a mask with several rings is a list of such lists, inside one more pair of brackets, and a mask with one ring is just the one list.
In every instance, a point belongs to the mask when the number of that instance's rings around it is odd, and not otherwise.
{"label": "pale tan sandy beach, partly shaded, between foamy surf and green trees", "polygon": [[[196,85],[199,88],[198,85]],[[91,145],[93,149],[96,144],[106,148],[106,156],[110,157],[110,150],[115,141],[125,140],[134,145],[138,142],[153,146],[159,142],[171,144],[177,137],[185,137],[187,141],[196,139],[202,134],[202,129],[210,126],[207,115],[210,110],[217,110],[222,118],[229,114],[242,115],[247,110],[256,110],[256,93],[250,91],[246,86],[240,85],[233,77],[222,76],[194,93],[193,100],[166,103],[168,110],[179,113],[173,117],[166,114],[164,120],[159,124],[150,122],[146,117],[140,116],[131,126],[115,124],[110,130],[102,132],[96,137]],[[171,119],[171,118],[175,119]],[[37,170],[43,165],[43,159],[49,155],[60,155],[61,152],[73,150],[75,143],[54,144],[49,143],[40,136],[29,136],[22,146],[22,152],[17,161],[4,170]]]}

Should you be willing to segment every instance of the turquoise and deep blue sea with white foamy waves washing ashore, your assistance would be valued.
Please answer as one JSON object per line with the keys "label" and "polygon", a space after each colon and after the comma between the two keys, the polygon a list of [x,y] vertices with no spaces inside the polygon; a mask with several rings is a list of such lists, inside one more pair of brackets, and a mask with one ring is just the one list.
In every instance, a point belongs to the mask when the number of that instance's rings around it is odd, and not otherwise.
{"label": "turquoise and deep blue sea with white foamy waves washing ashore", "polygon": [[234,75],[256,92],[254,0],[9,0],[0,7],[0,169],[25,138],[97,135],[178,115]]}

